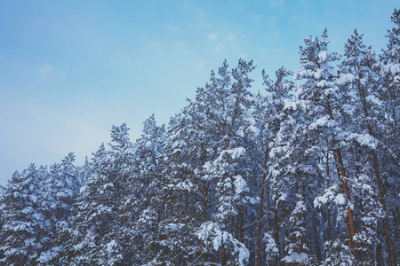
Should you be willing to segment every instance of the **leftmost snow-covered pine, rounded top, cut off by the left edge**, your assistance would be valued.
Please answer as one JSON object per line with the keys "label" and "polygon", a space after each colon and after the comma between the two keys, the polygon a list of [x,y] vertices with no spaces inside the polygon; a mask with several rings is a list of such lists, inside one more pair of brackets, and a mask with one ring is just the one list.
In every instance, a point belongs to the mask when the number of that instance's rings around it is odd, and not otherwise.
{"label": "leftmost snow-covered pine, rounded top, cut off by the left edge", "polygon": [[35,165],[15,172],[1,202],[4,223],[0,231],[3,265],[35,265],[44,247],[45,224],[42,185]]}

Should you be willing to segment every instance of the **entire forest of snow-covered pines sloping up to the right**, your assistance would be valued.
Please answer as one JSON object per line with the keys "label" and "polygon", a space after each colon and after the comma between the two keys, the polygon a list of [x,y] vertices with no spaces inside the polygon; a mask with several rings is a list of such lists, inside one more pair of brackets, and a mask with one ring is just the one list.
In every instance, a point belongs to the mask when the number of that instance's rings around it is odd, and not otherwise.
{"label": "entire forest of snow-covered pines sloping up to the right", "polygon": [[125,124],[76,167],[2,189],[1,265],[396,265],[400,12],[376,55],[326,30],[252,94],[226,61],[196,98],[131,141]]}

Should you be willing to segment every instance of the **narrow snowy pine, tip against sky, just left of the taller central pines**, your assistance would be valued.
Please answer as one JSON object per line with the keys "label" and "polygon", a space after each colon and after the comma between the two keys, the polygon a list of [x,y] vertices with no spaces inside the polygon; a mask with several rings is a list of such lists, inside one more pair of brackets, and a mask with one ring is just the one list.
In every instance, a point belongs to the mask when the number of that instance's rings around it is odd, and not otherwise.
{"label": "narrow snowy pine, tip against sky, just left of the taller central pines", "polygon": [[[164,170],[165,127],[157,126],[154,114],[143,122],[140,138],[133,147],[132,173],[133,243],[135,264],[163,263],[160,222],[164,219],[162,172]],[[160,260],[158,260],[160,259]]]}

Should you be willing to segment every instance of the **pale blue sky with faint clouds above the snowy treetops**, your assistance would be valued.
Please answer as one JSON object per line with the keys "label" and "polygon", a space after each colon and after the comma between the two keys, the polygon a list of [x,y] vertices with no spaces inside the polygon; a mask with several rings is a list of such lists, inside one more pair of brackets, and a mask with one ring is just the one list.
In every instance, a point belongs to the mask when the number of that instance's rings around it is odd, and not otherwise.
{"label": "pale blue sky with faint clouds above the snowy treetops", "polygon": [[0,185],[15,170],[68,153],[82,165],[112,125],[131,139],[152,113],[159,123],[194,98],[224,59],[261,71],[299,68],[299,46],[328,28],[343,51],[357,28],[386,47],[392,0],[0,1]]}

